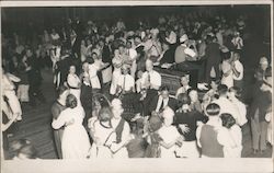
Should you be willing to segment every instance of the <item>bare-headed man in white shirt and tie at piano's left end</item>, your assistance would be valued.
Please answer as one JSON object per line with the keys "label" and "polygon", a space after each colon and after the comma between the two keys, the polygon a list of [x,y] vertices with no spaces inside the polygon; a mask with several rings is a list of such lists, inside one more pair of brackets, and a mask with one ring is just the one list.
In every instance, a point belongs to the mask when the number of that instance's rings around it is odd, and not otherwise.
{"label": "bare-headed man in white shirt and tie at piano's left end", "polygon": [[141,88],[159,90],[161,86],[161,76],[153,70],[153,62],[150,59],[146,61],[146,72],[141,76]]}

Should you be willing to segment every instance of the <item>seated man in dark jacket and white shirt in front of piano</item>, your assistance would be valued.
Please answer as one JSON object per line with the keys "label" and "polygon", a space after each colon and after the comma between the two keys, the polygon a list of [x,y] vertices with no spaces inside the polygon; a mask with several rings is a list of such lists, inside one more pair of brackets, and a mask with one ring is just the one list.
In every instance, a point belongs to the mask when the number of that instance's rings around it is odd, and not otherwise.
{"label": "seated man in dark jacket and white shirt in front of piano", "polygon": [[162,86],[160,89],[160,94],[155,96],[149,104],[149,112],[151,114],[160,113],[164,107],[169,106],[174,112],[178,108],[176,100],[170,97],[170,90],[168,86]]}

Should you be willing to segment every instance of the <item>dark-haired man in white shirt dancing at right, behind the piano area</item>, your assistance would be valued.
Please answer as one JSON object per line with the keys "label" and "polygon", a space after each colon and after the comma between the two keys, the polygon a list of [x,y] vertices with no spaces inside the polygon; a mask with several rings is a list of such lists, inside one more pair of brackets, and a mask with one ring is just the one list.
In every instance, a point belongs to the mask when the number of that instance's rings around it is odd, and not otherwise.
{"label": "dark-haired man in white shirt dancing at right, behind the piano area", "polygon": [[241,64],[240,59],[240,54],[239,53],[233,53],[232,55],[232,71],[233,71],[233,85],[242,89],[243,84],[243,66]]}

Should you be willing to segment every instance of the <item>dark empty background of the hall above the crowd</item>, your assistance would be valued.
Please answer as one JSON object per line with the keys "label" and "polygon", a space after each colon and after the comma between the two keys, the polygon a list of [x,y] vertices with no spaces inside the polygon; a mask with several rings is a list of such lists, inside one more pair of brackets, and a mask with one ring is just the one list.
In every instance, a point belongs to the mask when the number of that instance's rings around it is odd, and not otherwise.
{"label": "dark empty background of the hall above the crowd", "polygon": [[[118,18],[123,18],[128,23],[127,27],[134,27],[136,20],[152,19],[157,22],[156,16],[169,13],[186,14],[191,11],[212,11],[221,13],[233,19],[239,14],[249,15],[249,27],[256,27],[265,38],[271,35],[271,5],[270,4],[240,4],[240,5],[155,5],[155,7],[54,7],[54,8],[2,8],[1,21],[2,33],[11,32],[24,33],[25,31],[42,32],[44,28],[59,27],[65,19],[75,19],[79,16],[82,21],[106,21],[114,22]],[[30,27],[30,23],[33,24]]]}

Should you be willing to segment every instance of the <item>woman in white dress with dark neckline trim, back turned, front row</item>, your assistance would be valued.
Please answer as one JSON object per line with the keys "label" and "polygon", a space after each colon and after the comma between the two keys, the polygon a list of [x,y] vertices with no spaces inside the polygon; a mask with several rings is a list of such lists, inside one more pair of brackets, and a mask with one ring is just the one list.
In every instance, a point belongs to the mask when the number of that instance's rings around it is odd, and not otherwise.
{"label": "woman in white dress with dark neckline trim, back turned, front row", "polygon": [[98,119],[93,123],[91,136],[93,145],[90,151],[90,158],[110,159],[113,158],[111,146],[116,141],[116,132],[112,127],[111,119],[113,113],[110,107],[102,107]]}

